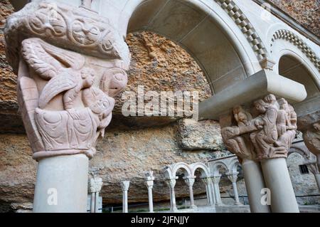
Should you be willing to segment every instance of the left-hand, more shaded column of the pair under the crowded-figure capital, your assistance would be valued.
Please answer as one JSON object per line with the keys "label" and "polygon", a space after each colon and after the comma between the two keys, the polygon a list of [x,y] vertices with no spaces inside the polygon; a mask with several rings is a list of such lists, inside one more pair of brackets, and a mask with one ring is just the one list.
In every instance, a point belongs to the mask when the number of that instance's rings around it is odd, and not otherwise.
{"label": "left-hand, more shaded column of the pair under the crowded-figure capital", "polygon": [[245,178],[245,188],[252,213],[270,213],[269,205],[261,204],[261,190],[265,189],[265,179],[263,179],[260,162],[250,159],[242,161],[242,170]]}

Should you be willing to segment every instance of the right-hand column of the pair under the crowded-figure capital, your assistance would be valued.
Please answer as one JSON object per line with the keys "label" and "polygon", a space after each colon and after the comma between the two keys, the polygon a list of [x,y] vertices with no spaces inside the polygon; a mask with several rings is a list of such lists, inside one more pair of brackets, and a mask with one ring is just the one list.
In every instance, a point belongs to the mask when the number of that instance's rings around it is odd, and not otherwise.
{"label": "right-hand column of the pair under the crowded-figure capital", "polygon": [[262,160],[261,167],[265,184],[271,193],[272,213],[299,213],[286,159]]}

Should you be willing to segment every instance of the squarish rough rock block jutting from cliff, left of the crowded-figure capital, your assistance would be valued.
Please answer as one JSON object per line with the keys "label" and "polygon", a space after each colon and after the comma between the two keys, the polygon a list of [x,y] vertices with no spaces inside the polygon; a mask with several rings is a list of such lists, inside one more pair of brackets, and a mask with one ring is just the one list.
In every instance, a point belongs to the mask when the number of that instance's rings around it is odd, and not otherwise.
{"label": "squarish rough rock block jutting from cliff, left of the crowded-figure capital", "polygon": [[177,137],[183,150],[224,149],[220,126],[213,120],[201,122],[192,119],[179,120]]}

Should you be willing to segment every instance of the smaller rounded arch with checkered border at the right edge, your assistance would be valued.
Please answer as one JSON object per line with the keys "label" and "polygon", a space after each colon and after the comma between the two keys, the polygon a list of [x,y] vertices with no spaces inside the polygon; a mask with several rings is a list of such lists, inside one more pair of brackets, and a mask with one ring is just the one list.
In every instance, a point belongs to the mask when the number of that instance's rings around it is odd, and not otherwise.
{"label": "smaller rounded arch with checkered border at the right edge", "polygon": [[311,46],[294,31],[276,24],[268,32],[273,70],[306,88],[304,101],[294,104],[298,117],[314,112],[320,100],[320,59]]}

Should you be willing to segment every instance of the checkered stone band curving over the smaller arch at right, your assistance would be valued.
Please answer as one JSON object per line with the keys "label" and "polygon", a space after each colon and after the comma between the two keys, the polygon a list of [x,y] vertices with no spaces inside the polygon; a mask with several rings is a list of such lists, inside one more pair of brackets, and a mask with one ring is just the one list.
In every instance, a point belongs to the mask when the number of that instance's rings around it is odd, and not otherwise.
{"label": "checkered stone band curving over the smaller arch at right", "polygon": [[[316,53],[311,50],[311,48],[302,41],[301,38],[299,38],[296,34],[294,34],[292,31],[288,31],[285,29],[281,29],[279,31],[276,31],[274,35],[272,36],[272,43],[276,41],[277,39],[284,39],[286,41],[289,41],[290,43],[294,44],[294,46],[297,46],[302,53],[306,55],[307,58],[311,61],[311,63],[314,64],[314,66],[319,70],[320,72],[320,59],[318,56],[316,56]],[[272,44],[271,44],[272,46]]]}

